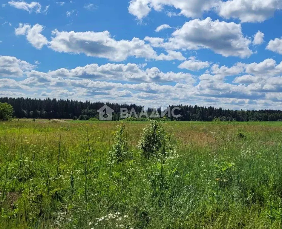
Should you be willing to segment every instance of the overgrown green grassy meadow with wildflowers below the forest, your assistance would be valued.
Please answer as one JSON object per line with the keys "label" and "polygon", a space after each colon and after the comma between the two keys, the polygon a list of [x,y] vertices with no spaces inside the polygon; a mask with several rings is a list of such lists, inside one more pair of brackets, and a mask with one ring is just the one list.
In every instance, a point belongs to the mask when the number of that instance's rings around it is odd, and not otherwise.
{"label": "overgrown green grassy meadow with wildflowers below the forest", "polygon": [[0,122],[0,228],[281,228],[281,143],[280,122]]}

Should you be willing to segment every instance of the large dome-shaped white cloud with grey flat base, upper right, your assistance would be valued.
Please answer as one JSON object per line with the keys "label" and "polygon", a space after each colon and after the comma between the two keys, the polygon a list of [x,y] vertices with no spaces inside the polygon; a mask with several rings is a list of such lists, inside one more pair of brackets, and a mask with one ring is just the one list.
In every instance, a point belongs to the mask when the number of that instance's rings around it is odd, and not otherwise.
{"label": "large dome-shaped white cloud with grey flat base, upper right", "polygon": [[223,56],[249,57],[251,40],[243,35],[241,24],[215,20],[210,17],[186,22],[172,33],[163,47],[168,50],[198,50],[209,48]]}

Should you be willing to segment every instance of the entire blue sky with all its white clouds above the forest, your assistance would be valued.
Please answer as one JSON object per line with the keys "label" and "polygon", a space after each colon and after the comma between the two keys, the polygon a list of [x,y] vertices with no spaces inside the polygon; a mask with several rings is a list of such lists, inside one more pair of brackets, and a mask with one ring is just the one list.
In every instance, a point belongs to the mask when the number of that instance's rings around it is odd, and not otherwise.
{"label": "entire blue sky with all its white clouds above the forest", "polygon": [[282,0],[1,1],[0,96],[281,109]]}

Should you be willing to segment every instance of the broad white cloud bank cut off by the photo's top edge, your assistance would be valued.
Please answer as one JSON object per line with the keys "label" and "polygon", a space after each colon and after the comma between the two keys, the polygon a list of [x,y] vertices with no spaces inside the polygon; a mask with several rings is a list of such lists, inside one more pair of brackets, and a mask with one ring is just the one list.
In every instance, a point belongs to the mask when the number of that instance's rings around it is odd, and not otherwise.
{"label": "broad white cloud bank cut off by the photo's top edge", "polygon": [[[128,11],[137,19],[148,16],[152,9],[164,10],[165,6],[180,10],[178,15],[188,18],[201,17],[204,12],[215,11],[220,16],[230,19],[237,18],[241,22],[261,22],[281,10],[281,0],[131,0]],[[169,11],[168,16],[177,13]]]}

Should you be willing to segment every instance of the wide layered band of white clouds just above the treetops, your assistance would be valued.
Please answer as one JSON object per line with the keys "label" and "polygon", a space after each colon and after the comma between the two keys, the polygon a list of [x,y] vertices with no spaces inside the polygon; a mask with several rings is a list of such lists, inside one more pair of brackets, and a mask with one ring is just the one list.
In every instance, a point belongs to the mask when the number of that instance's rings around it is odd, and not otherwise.
{"label": "wide layered band of white clouds just above the treetops", "polygon": [[[196,61],[194,57],[189,60]],[[127,102],[130,99],[148,105],[240,104],[240,108],[261,108],[264,103],[272,107],[282,104],[277,104],[282,100],[282,62],[276,63],[273,59],[250,64],[238,62],[233,66],[213,64],[208,73],[198,76],[199,83],[196,85],[197,76],[183,72],[162,72],[157,67],[145,69],[143,64],[88,64],[46,73],[34,70],[35,67],[16,57],[1,56],[0,76],[5,78],[0,79],[0,94],[12,95],[21,90],[23,96],[82,100],[99,100],[102,96],[107,101],[118,99]],[[27,78],[8,79],[15,76]],[[226,78],[231,77],[234,77],[232,83],[225,82]],[[174,86],[171,82],[175,82]]]}

